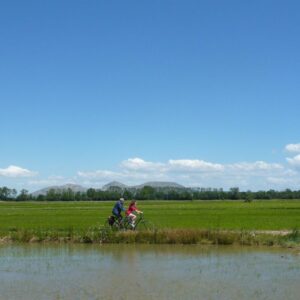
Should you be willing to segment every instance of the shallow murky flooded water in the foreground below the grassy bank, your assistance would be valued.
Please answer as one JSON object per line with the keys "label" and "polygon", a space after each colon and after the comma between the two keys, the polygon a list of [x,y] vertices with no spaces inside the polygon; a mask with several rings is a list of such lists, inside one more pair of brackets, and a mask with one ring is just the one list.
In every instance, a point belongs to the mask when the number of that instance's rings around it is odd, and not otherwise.
{"label": "shallow murky flooded water in the foreground below the grassy bank", "polygon": [[0,299],[299,299],[296,251],[2,245]]}

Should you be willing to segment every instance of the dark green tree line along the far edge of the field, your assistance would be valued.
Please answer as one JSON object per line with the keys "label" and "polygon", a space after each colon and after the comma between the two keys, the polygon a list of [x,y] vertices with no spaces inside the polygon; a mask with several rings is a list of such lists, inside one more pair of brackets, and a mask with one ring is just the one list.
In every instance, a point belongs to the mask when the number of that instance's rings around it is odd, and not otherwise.
{"label": "dark green tree line along the far edge of the field", "polygon": [[110,187],[108,190],[90,188],[85,192],[73,190],[50,189],[45,195],[33,196],[26,189],[17,192],[16,189],[0,187],[0,201],[109,201],[120,197],[136,200],[244,200],[251,202],[271,199],[300,199],[300,190],[286,189],[283,191],[240,191],[233,187],[228,191],[212,188],[154,188],[144,186],[141,189]]}

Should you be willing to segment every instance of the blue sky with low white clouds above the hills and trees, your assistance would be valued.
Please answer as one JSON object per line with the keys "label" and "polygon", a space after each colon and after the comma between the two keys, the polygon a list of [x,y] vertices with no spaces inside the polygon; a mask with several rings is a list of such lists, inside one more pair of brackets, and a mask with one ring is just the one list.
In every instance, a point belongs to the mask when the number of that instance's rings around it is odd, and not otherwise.
{"label": "blue sky with low white clouds above the hills and trees", "polygon": [[0,4],[0,186],[300,188],[299,1]]}

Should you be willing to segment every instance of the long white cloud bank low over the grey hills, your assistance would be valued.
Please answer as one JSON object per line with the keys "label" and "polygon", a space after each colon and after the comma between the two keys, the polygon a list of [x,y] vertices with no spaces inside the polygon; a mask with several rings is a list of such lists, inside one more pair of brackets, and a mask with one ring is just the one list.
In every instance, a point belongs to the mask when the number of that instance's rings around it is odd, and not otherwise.
{"label": "long white cloud bank low over the grey hills", "polygon": [[170,159],[164,163],[150,162],[141,158],[129,158],[121,162],[118,172],[97,170],[78,172],[84,182],[97,183],[121,181],[128,185],[145,181],[175,181],[185,186],[223,187],[239,186],[241,189],[276,188],[280,179],[289,177],[289,184],[295,184],[298,173],[278,163],[264,161],[219,164],[204,160]]}

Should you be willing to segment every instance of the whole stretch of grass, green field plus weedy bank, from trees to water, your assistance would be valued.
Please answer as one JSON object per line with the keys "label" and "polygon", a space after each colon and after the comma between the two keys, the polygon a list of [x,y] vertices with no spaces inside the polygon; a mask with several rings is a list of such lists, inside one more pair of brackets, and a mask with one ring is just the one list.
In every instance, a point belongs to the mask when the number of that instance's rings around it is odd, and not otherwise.
{"label": "whole stretch of grass, green field plus weedy bank, from trees to water", "polygon": [[[114,202],[0,202],[0,237],[12,241],[101,241]],[[155,232],[127,232],[108,242],[299,245],[299,231],[278,237],[257,230],[300,227],[299,200],[147,201],[138,203]]]}

